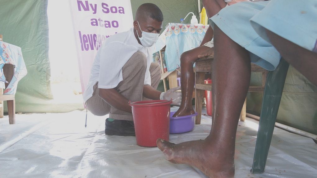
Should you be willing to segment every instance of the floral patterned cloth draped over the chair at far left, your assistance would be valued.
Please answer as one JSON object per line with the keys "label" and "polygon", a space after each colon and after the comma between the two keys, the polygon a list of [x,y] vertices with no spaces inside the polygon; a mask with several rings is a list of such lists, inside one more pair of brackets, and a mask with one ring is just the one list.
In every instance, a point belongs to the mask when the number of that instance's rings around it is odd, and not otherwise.
{"label": "floral patterned cloth draped over the chair at far left", "polygon": [[26,74],[26,66],[23,60],[21,48],[15,45],[0,41],[0,87],[5,88],[4,83],[8,83],[3,75],[4,64],[15,65],[15,73],[9,86],[3,92],[3,94],[10,95],[16,93],[17,83]]}

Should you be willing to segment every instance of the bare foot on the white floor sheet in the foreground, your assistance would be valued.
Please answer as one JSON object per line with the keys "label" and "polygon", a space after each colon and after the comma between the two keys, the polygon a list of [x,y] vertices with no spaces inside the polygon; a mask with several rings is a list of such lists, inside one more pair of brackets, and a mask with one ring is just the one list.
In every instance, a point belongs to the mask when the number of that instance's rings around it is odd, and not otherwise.
{"label": "bare foot on the white floor sheet in the foreground", "polygon": [[212,178],[234,177],[234,152],[226,152],[225,145],[215,148],[207,139],[179,144],[158,139],[156,143],[166,160],[172,163],[191,165]]}

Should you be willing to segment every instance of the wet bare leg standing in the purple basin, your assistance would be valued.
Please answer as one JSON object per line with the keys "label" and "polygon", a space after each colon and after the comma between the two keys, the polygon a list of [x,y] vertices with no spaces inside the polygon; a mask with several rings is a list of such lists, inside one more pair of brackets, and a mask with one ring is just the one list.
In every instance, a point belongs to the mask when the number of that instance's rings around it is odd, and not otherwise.
{"label": "wet bare leg standing in the purple basin", "polygon": [[173,117],[187,116],[194,114],[191,100],[193,95],[195,74],[193,70],[193,64],[198,60],[198,55],[209,49],[206,46],[200,46],[192,50],[184,52],[180,57],[180,70],[181,70],[181,86],[182,86],[182,103],[175,112]]}

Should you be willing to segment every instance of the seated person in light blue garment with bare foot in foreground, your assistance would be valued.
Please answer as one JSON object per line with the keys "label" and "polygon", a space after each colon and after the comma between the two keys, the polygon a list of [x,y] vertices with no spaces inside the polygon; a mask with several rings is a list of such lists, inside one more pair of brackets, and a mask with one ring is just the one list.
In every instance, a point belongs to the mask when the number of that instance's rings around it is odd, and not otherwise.
{"label": "seated person in light blue garment with bare foot in foreground", "polygon": [[[208,177],[232,178],[236,129],[249,88],[250,62],[274,70],[281,54],[317,86],[316,1],[241,2],[223,10],[222,3],[203,2],[212,12],[215,39],[210,135],[179,144],[158,139],[157,144],[170,162],[189,164]],[[181,74],[183,90],[189,90],[193,85],[185,82],[193,83],[193,74]],[[187,97],[183,95],[184,100]],[[188,114],[182,106],[179,110],[179,115]]]}

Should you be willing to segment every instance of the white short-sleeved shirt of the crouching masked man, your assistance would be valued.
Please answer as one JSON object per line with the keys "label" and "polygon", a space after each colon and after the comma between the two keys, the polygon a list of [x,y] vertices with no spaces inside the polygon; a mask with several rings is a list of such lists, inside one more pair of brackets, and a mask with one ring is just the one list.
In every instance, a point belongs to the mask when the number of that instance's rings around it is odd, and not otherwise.
{"label": "white short-sleeved shirt of the crouching masked man", "polygon": [[122,67],[137,51],[147,58],[144,85],[151,85],[149,67],[152,61],[152,49],[140,45],[134,36],[133,28],[108,37],[99,48],[90,72],[88,85],[83,93],[84,102],[93,96],[93,86],[115,88],[123,80]]}

